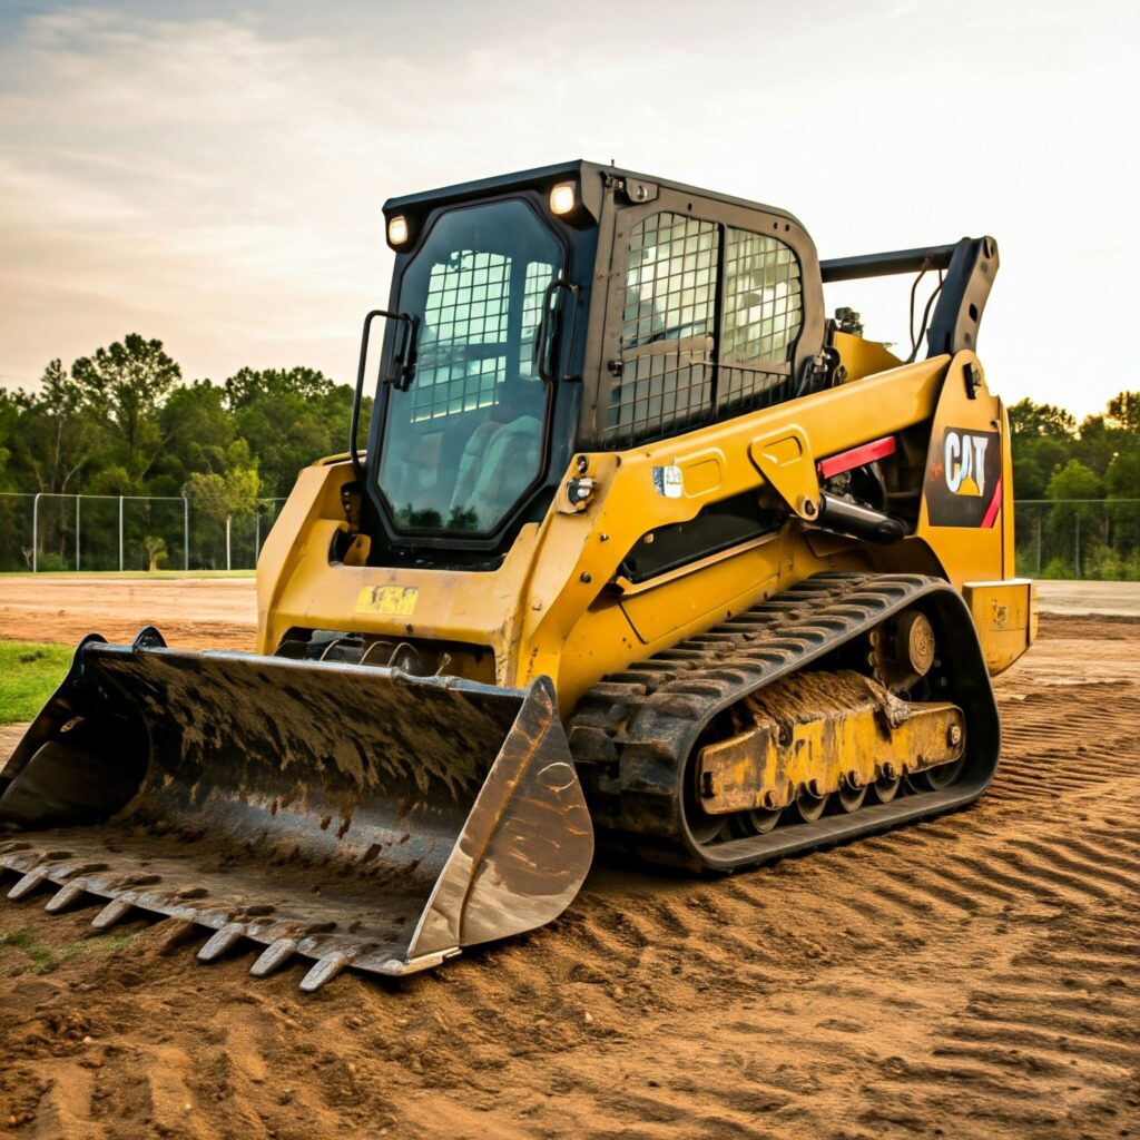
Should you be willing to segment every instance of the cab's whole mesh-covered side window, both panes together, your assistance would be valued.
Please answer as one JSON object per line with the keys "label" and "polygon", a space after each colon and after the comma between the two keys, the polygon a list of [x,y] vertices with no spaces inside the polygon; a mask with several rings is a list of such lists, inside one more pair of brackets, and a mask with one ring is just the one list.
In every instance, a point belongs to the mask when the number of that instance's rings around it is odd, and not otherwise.
{"label": "cab's whole mesh-covered side window, both panes together", "polygon": [[799,261],[783,242],[652,214],[630,229],[625,288],[621,368],[605,409],[612,443],[656,439],[791,397],[803,288]]}

